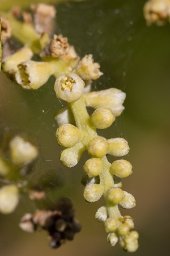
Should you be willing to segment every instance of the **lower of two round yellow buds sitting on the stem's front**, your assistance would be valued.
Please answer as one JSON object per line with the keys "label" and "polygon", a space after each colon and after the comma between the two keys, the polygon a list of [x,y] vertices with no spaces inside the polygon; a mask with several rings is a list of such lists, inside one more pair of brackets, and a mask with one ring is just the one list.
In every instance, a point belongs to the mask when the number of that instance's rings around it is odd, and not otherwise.
{"label": "lower of two round yellow buds sitting on the stem's front", "polygon": [[107,199],[111,204],[119,204],[124,196],[124,192],[121,188],[111,188],[107,193]]}

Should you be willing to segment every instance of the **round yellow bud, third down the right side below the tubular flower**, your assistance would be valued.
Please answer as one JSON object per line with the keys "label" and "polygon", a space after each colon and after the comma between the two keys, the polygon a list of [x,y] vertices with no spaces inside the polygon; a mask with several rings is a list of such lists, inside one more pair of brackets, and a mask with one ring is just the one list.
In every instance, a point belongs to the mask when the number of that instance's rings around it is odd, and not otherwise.
{"label": "round yellow bud, third down the right side below the tubular flower", "polygon": [[110,172],[120,178],[128,177],[132,174],[131,163],[123,159],[116,160],[111,164]]}

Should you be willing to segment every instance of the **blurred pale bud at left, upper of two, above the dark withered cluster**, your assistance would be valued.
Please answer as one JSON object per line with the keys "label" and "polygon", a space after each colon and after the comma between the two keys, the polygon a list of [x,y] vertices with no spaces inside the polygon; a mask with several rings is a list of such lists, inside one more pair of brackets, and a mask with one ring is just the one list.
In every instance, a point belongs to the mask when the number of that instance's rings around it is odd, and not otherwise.
{"label": "blurred pale bud at left, upper of two, above the dark withered cluster", "polygon": [[16,136],[10,141],[11,160],[14,164],[32,162],[37,158],[38,150],[33,144]]}

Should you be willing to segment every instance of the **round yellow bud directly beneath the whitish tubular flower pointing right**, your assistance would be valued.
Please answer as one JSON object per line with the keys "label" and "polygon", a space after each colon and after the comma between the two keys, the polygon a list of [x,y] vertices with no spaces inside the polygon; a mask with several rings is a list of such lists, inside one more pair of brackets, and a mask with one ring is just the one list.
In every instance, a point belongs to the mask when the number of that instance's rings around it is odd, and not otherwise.
{"label": "round yellow bud directly beneath the whitish tubular flower pointing right", "polygon": [[115,116],[111,109],[99,108],[92,113],[90,117],[90,124],[97,129],[106,129],[112,125]]}

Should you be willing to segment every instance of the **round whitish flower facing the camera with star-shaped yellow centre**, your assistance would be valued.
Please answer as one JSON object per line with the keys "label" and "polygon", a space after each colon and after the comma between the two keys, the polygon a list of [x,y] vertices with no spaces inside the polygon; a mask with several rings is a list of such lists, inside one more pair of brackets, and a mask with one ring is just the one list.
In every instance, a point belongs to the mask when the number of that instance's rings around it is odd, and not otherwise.
{"label": "round whitish flower facing the camera with star-shaped yellow centre", "polygon": [[83,89],[84,81],[74,73],[63,73],[54,85],[57,97],[67,102],[77,101],[82,96]]}

